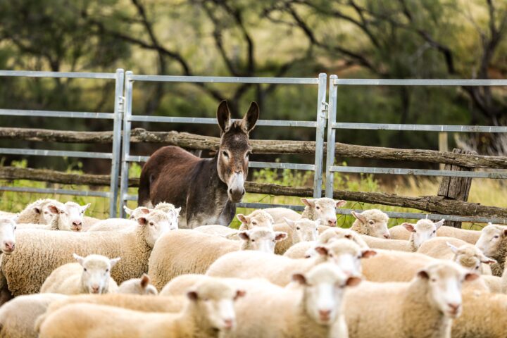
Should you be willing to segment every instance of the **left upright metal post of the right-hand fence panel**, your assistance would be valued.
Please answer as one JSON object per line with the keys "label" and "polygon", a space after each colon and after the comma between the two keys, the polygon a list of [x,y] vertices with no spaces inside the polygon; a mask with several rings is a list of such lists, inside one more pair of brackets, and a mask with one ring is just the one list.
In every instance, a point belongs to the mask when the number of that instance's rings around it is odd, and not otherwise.
{"label": "left upright metal post of the right-hand fence panel", "polygon": [[333,183],[334,174],[331,171],[332,165],[334,165],[334,142],[336,138],[336,130],[332,127],[333,123],[336,122],[337,112],[337,94],[338,86],[334,84],[334,80],[337,80],[337,75],[330,76],[330,93],[329,93],[329,113],[327,113],[327,154],[326,154],[326,191],[325,196],[332,199],[333,196]]}

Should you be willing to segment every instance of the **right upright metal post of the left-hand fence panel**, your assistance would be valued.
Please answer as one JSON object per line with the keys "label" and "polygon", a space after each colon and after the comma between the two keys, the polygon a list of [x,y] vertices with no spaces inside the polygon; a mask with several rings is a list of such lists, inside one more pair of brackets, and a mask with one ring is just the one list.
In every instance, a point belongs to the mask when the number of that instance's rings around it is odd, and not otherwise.
{"label": "right upright metal post of the left-hand fence panel", "polygon": [[125,71],[118,68],[115,77],[115,106],[113,120],[113,146],[111,158],[111,186],[109,187],[109,217],[116,217],[116,206],[118,204],[118,180],[120,168],[121,151],[121,122],[123,118],[123,80]]}

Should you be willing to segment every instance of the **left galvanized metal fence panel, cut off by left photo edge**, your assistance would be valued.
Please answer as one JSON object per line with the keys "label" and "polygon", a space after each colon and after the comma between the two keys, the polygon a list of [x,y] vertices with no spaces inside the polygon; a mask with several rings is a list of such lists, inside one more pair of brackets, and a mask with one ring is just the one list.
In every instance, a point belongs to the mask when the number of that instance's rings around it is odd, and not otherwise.
{"label": "left galvanized metal fence panel, cut off by left photo edge", "polygon": [[0,109],[0,115],[23,117],[56,117],[56,118],[101,118],[113,120],[113,144],[111,153],[88,151],[55,151],[47,149],[0,148],[0,154],[29,155],[29,156],[68,156],[77,158],[106,158],[111,160],[111,184],[109,192],[76,191],[70,189],[49,189],[30,187],[0,187],[0,191],[33,192],[42,194],[66,194],[77,196],[99,196],[109,199],[109,215],[116,216],[118,202],[118,167],[120,164],[121,121],[123,115],[123,69],[116,73],[60,73],[60,72],[32,72],[20,70],[0,70],[0,77],[49,77],[49,78],[79,78],[115,80],[115,101],[113,113],[93,113],[82,111],[37,111],[21,109]]}

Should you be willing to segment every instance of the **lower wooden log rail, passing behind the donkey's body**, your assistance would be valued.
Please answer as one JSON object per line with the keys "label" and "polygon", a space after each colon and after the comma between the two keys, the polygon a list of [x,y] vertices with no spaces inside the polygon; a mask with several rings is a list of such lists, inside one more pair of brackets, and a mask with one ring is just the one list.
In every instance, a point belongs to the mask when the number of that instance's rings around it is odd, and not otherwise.
{"label": "lower wooden log rail, passing behind the donkey's body", "polygon": [[[109,175],[73,174],[54,170],[14,167],[0,167],[0,180],[35,180],[60,184],[97,186],[108,186],[110,183]],[[129,179],[130,187],[137,187],[138,185],[138,178]],[[286,187],[278,184],[258,182],[245,182],[245,189],[249,193],[275,196],[308,197],[313,194],[311,187]],[[411,197],[380,192],[351,192],[348,190],[334,190],[333,196],[335,199],[344,199],[346,201],[415,208],[427,213],[507,218],[507,208],[482,206],[477,203],[444,199],[442,196]]]}

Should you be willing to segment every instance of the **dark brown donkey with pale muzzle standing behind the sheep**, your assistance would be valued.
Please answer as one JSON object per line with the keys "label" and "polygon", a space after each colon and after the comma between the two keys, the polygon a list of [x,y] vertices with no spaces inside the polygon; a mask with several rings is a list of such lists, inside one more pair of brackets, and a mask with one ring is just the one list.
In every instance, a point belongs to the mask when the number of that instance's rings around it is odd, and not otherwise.
{"label": "dark brown donkey with pale muzzle standing behind the sheep", "polygon": [[153,207],[162,201],[181,206],[180,228],[229,225],[235,204],[245,194],[249,133],[258,115],[259,108],[252,102],[244,118],[231,123],[227,101],[220,102],[220,148],[213,158],[198,158],[178,146],[155,151],[142,168],[139,206]]}

